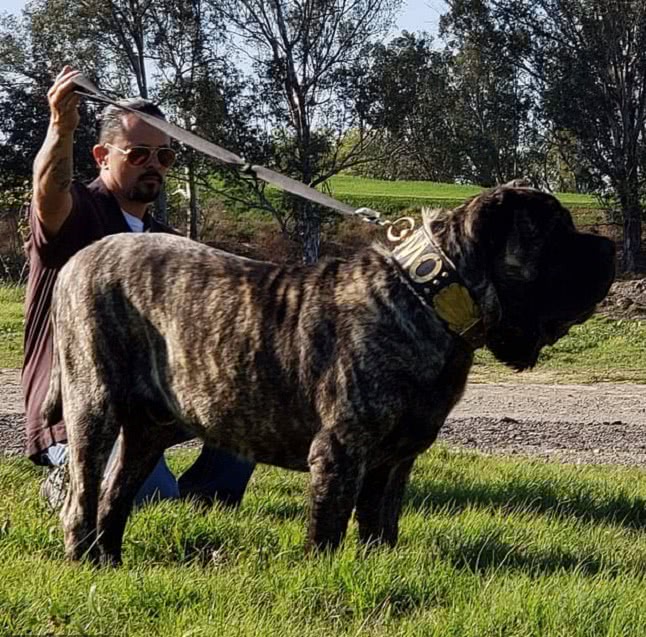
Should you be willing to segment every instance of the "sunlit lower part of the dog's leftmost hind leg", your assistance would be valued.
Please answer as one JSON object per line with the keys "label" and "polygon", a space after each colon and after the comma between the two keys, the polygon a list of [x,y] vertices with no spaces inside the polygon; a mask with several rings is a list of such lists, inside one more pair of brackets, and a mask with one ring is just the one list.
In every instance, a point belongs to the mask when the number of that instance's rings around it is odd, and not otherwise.
{"label": "sunlit lower part of the dog's leftmost hind leg", "polygon": [[87,557],[96,563],[99,489],[119,425],[105,400],[87,400],[88,396],[96,397],[98,391],[87,392],[84,386],[76,391],[69,389],[63,397],[70,473],[61,511],[65,553],[72,560]]}

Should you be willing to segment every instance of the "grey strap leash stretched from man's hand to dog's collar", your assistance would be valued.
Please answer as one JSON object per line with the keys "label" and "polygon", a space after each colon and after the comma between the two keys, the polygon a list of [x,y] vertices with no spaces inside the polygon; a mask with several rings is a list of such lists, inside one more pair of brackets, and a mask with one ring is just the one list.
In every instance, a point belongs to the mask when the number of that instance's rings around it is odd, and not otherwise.
{"label": "grey strap leash stretched from man's hand to dog's collar", "polygon": [[[199,137],[194,133],[191,133],[190,131],[180,128],[175,124],[167,122],[164,119],[155,117],[153,115],[148,115],[147,113],[142,113],[141,111],[138,111],[133,108],[129,108],[128,106],[122,106],[116,100],[110,99],[109,97],[101,93],[99,89],[96,86],[94,86],[94,84],[90,82],[90,80],[88,80],[83,75],[76,76],[75,78],[73,78],[72,81],[79,88],[83,89],[83,90],[75,91],[75,93],[77,93],[78,95],[81,95],[82,97],[85,97],[90,100],[94,100],[96,102],[111,104],[112,106],[116,106],[130,113],[134,113],[137,117],[142,119],[144,122],[166,133],[169,137],[172,137],[178,142],[181,142],[182,144],[186,144],[187,146],[190,146],[191,148],[194,148],[195,150],[205,155],[208,155],[213,159],[216,159],[218,162],[222,164],[225,164],[227,166],[233,166],[243,174],[253,175],[257,179],[260,179],[268,184],[271,184],[272,186],[277,186],[281,190],[289,192],[293,195],[297,195],[304,199],[313,201],[314,203],[324,206],[325,208],[330,208],[332,210],[335,210],[336,212],[344,216],[359,217],[363,221],[380,225],[380,226],[393,225],[393,223],[389,220],[382,220],[381,214],[378,211],[373,210],[372,208],[355,209],[352,206],[349,206],[348,204],[345,204],[341,201],[337,201],[336,199],[333,199],[329,195],[319,192],[318,190],[316,190],[315,188],[311,188],[310,186],[306,186],[302,182],[296,181],[291,177],[286,177],[285,175],[281,175],[280,173],[270,170],[269,168],[265,168],[264,166],[252,165],[246,162],[242,157],[239,157],[238,155],[236,155],[235,153],[232,153],[231,151],[226,150],[225,148],[221,148],[220,146],[217,146],[216,144],[209,142],[206,139]],[[391,236],[390,228],[389,228],[388,235],[390,238]],[[397,236],[397,235],[395,234],[393,236]],[[397,239],[391,239],[391,240],[400,240],[402,238],[403,236],[400,236]]]}

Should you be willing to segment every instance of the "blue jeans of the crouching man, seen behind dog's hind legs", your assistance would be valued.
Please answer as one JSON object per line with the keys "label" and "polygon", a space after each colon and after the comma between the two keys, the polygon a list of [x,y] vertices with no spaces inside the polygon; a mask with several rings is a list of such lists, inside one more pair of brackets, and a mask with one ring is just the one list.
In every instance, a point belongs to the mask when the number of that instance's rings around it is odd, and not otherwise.
{"label": "blue jeans of the crouching man, seen behind dog's hind legs", "polygon": [[[115,450],[108,461],[106,473],[110,471]],[[67,444],[52,445],[43,456],[50,466],[60,467],[67,463]],[[204,445],[196,461],[177,480],[162,456],[137,492],[135,506],[180,497],[196,498],[206,504],[218,501],[237,506],[242,501],[254,468],[252,462]]]}

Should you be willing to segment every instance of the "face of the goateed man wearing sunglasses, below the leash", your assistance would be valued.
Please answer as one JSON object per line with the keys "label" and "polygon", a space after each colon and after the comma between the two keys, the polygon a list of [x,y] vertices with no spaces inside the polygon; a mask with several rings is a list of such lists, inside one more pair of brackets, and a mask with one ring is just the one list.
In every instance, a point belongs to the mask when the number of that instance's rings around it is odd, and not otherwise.
{"label": "face of the goateed man wearing sunglasses, below the leash", "polygon": [[142,165],[133,166],[127,156],[120,151],[128,151],[140,146],[153,149],[167,148],[170,146],[170,138],[131,113],[124,115],[122,121],[123,132],[110,144],[104,144],[100,150],[100,159],[97,158],[102,168],[102,179],[118,198],[124,201],[150,203],[159,195],[168,168],[159,162],[156,152],[152,152]]}

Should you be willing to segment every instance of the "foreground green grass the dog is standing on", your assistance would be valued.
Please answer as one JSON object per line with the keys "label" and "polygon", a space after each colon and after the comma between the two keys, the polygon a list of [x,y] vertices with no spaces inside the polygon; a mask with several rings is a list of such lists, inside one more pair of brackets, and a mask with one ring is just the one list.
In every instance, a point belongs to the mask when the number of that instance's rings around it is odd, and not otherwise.
{"label": "foreground green grass the dog is standing on", "polygon": [[[186,453],[175,454],[175,468]],[[400,542],[306,557],[306,476],[260,468],[242,508],[138,512],[124,566],[62,559],[39,473],[0,462],[0,634],[646,634],[646,475],[438,449],[413,475]]]}

